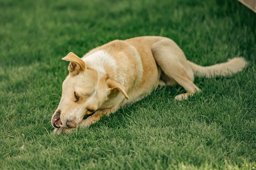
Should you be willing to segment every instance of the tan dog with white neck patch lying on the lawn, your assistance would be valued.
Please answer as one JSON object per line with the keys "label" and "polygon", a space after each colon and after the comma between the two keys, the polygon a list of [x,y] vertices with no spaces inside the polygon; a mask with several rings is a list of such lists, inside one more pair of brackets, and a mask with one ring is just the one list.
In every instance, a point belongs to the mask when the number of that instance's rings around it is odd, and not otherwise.
{"label": "tan dog with white neck patch lying on the lawn", "polygon": [[[175,99],[187,99],[199,91],[193,83],[194,75],[228,76],[246,65],[243,58],[234,58],[200,66],[188,61],[174,41],[157,36],[114,40],[82,58],[69,53],[62,60],[70,64],[60,103],[52,116],[54,132],[58,134],[88,127],[102,115],[144,98],[158,85],[178,83],[187,92]],[[83,119],[86,114],[92,115]]]}

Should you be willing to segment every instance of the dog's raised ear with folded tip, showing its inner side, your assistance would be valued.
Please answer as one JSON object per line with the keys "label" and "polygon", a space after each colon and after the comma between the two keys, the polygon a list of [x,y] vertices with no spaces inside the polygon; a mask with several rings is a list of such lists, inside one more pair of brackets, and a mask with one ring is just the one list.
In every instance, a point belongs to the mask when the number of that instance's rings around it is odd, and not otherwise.
{"label": "dog's raised ear with folded tip, showing its inner side", "polygon": [[72,52],[70,52],[66,57],[62,58],[62,60],[70,61],[69,73],[72,76],[78,75],[80,72],[86,69],[86,64],[84,64],[84,61],[82,61],[81,58]]}

